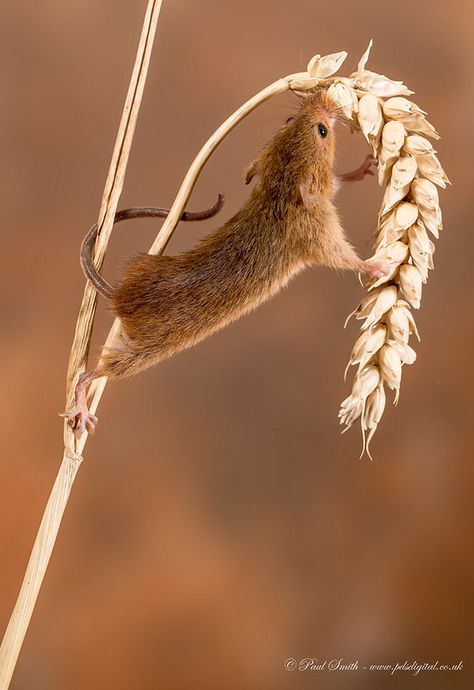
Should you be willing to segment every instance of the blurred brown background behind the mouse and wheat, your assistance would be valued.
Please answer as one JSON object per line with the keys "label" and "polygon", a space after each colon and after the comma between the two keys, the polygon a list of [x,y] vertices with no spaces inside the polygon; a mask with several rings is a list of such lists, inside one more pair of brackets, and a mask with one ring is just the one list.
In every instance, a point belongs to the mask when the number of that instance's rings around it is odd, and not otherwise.
{"label": "blurred brown background behind the mouse and wheat", "polygon": [[[94,222],[146,2],[0,8],[2,317],[0,627],[61,455],[64,378]],[[201,144],[244,100],[309,57],[347,50],[416,91],[443,134],[454,186],[404,373],[358,461],[337,411],[361,295],[353,275],[308,271],[192,351],[107,390],[12,688],[372,690],[408,673],[290,673],[286,658],[361,665],[464,661],[472,675],[472,5],[349,0],[164,0],[121,207],[169,204]],[[248,194],[241,171],[295,108],[275,98],[225,141],[190,207]],[[361,137],[339,137],[338,169]],[[364,256],[381,192],[338,200]],[[182,226],[181,251],[211,230]],[[111,276],[156,224],[117,228]],[[101,302],[94,355],[110,315]],[[472,656],[471,656],[472,658]]]}

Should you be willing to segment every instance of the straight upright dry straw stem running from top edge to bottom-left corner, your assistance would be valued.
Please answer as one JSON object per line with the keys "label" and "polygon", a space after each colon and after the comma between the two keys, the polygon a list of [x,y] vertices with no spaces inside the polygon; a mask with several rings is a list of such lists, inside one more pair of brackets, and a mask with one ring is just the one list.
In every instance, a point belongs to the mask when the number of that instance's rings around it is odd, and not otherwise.
{"label": "straight upright dry straw stem running from top edge to bottom-left corner", "polygon": [[[105,256],[107,243],[112,231],[113,219],[123,187],[125,169],[145,86],[160,9],[161,0],[150,0],[148,2],[137,57],[99,212],[100,235],[96,249],[96,263],[98,266],[102,264]],[[72,400],[73,383],[85,367],[96,304],[97,294],[90,285],[87,285],[84,291],[69,360],[68,404]],[[85,439],[81,444],[81,450],[84,442]],[[64,444],[64,455],[59,473],[46,505],[20,593],[0,647],[0,690],[7,690],[10,685],[69,494],[81,464],[82,457],[77,452],[77,449],[74,448],[74,435],[67,425],[65,425]]]}

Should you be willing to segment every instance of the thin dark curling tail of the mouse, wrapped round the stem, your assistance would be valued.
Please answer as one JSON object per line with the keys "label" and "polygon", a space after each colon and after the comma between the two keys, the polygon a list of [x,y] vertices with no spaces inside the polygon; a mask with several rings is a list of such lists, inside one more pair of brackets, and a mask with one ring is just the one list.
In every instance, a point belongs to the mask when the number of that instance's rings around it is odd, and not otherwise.
{"label": "thin dark curling tail of the mouse, wrapped round the stem", "polygon": [[[215,216],[224,205],[224,195],[219,194],[214,206],[205,209],[204,211],[183,211],[180,220],[206,220]],[[169,209],[156,208],[154,206],[141,206],[138,208],[126,208],[123,211],[118,211],[115,214],[114,224],[122,220],[131,220],[132,218],[166,218]],[[84,238],[81,247],[81,266],[86,278],[92,283],[97,292],[103,297],[110,299],[114,292],[114,288],[103,278],[94,264],[95,242],[97,239],[98,225],[97,223],[91,227]]]}

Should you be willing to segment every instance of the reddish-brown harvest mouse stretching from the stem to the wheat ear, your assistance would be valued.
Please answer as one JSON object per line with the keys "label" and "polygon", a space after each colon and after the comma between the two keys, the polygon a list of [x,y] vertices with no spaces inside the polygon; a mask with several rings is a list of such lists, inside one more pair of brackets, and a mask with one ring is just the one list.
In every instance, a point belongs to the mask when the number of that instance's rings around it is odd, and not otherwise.
{"label": "reddish-brown harvest mouse stretching from the stem to the wheat ear", "polygon": [[388,273],[385,264],[357,256],[333,203],[342,182],[363,179],[375,163],[369,156],[357,170],[335,177],[339,113],[326,91],[306,96],[248,168],[246,182],[258,180],[247,202],[184,254],[141,254],[112,287],[94,268],[94,242],[86,238],[84,271],[110,299],[121,331],[97,367],[78,379],[75,406],[64,413],[77,436],[97,423],[86,402],[95,378],[136,374],[198,343],[268,300],[307,266]]}

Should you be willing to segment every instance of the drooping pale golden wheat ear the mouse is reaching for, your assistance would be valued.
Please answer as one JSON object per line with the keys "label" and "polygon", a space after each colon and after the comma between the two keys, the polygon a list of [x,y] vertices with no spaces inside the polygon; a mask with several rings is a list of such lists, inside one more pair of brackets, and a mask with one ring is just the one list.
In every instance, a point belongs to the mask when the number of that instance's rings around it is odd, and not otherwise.
{"label": "drooping pale golden wheat ear the mouse is reaching for", "polygon": [[385,386],[400,396],[402,368],[413,364],[416,353],[408,344],[419,339],[412,309],[419,309],[422,285],[434,267],[435,246],[442,229],[439,187],[449,183],[436,151],[426,135],[439,139],[423,112],[406,96],[413,92],[403,82],[365,69],[372,41],[356,72],[331,85],[329,91],[360,129],[378,160],[379,184],[386,184],[375,232],[375,260],[388,264],[382,278],[372,278],[368,294],[351,316],[363,320],[362,333],[347,369],[357,367],[351,395],[339,417],[346,431],[361,421],[364,452],[382,417]]}

